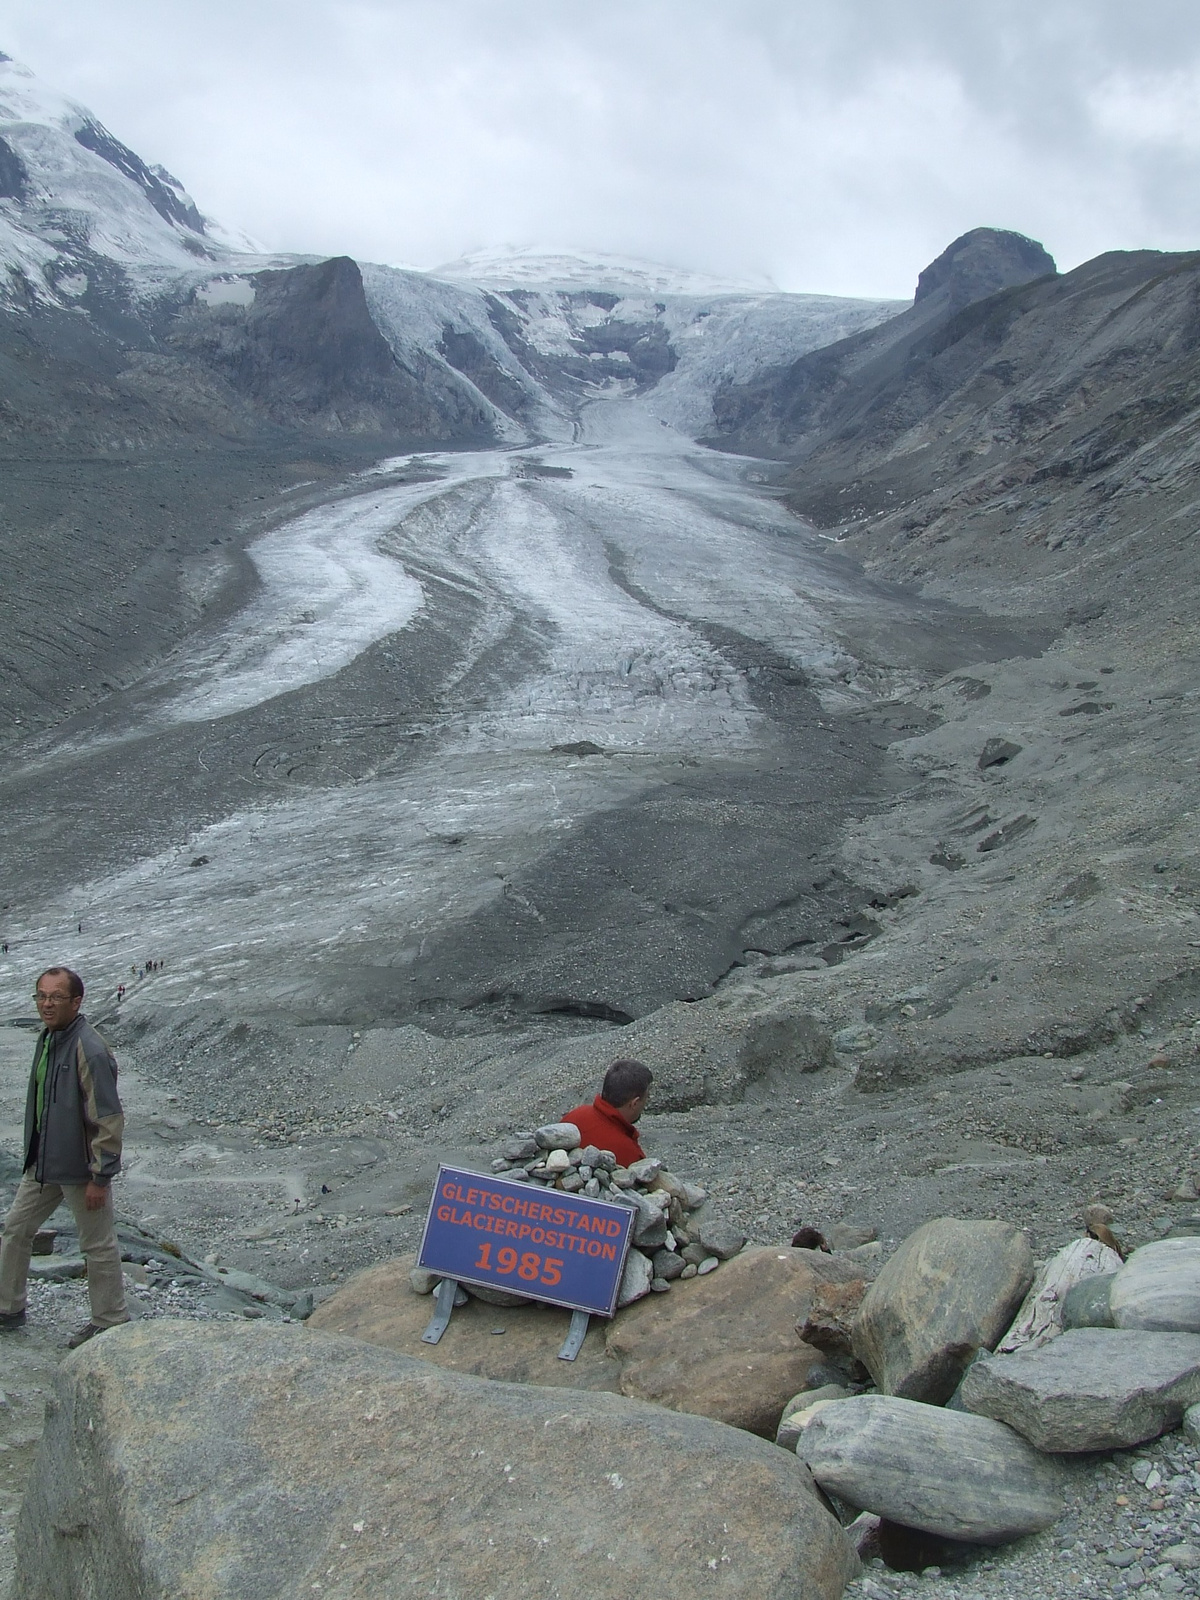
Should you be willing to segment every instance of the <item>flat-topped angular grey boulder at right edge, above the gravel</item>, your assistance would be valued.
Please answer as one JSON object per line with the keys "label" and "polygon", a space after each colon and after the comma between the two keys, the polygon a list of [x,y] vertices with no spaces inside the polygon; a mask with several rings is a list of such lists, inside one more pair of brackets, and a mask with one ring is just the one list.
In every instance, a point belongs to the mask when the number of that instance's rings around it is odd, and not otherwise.
{"label": "flat-topped angular grey boulder at right edge, above the gravel", "polygon": [[1075,1328],[1038,1349],[982,1355],[960,1400],[1038,1450],[1123,1450],[1178,1427],[1200,1402],[1200,1334]]}

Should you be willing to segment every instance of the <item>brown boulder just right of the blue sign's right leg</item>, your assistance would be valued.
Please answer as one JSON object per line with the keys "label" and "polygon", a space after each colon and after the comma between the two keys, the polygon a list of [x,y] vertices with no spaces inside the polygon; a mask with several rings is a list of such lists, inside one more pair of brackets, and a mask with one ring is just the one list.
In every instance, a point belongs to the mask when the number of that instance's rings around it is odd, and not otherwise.
{"label": "brown boulder just right of the blue sign's right leg", "polygon": [[720,1272],[672,1283],[670,1294],[638,1301],[610,1325],[621,1392],[774,1438],[792,1395],[837,1376],[797,1323],[821,1283],[859,1272],[821,1251],[758,1246]]}

